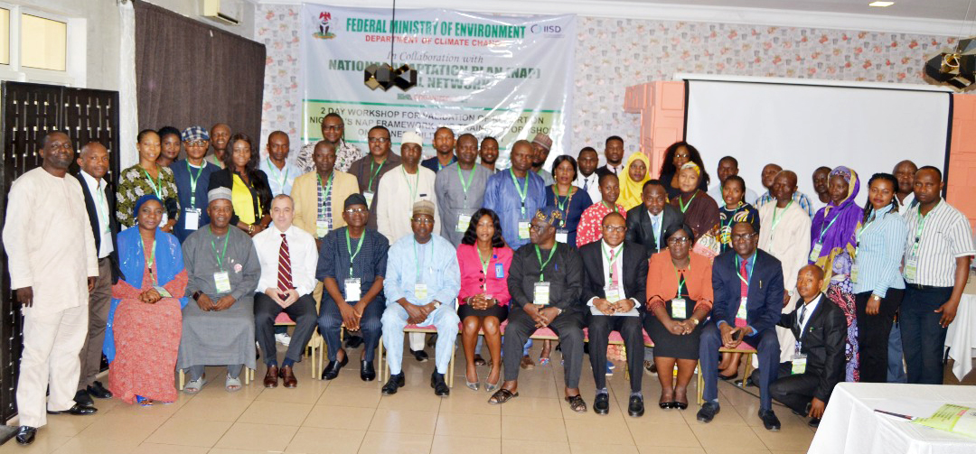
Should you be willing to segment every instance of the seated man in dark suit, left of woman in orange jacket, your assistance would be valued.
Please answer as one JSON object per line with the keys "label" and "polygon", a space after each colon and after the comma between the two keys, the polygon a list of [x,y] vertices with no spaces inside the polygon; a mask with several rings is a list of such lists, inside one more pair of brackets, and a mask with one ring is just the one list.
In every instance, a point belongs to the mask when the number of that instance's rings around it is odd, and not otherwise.
{"label": "seated man in dark suit, left of woman in orange jacket", "polygon": [[606,388],[607,344],[610,331],[620,332],[627,348],[630,370],[630,416],[644,414],[644,397],[640,394],[640,361],[644,355],[637,308],[647,301],[647,252],[636,243],[625,242],[627,224],[619,212],[603,217],[603,240],[580,247],[583,258],[583,301],[587,302],[587,325],[590,327],[590,366],[596,397],[593,411],[605,415],[610,410]]}

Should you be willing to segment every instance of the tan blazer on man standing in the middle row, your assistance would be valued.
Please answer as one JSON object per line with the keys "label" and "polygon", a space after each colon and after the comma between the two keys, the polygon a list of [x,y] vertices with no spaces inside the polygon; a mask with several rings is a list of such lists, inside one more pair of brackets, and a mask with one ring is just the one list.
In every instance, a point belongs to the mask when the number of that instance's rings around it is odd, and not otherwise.
{"label": "tan blazer on man standing in the middle row", "polygon": [[[295,178],[292,183],[292,200],[295,201],[295,226],[316,236],[315,220],[318,218],[318,172],[312,170]],[[332,170],[332,229],[346,226],[343,219],[343,208],[346,198],[359,193],[359,182],[356,177],[345,171]],[[327,181],[323,181],[329,184]]]}

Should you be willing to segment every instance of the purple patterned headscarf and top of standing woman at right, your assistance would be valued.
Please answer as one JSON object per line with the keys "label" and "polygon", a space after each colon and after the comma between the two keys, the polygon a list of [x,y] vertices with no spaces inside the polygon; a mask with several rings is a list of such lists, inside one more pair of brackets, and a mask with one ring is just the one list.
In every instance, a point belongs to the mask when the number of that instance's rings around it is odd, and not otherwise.
{"label": "purple patterned headscarf and top of standing woman at right", "polygon": [[[831,170],[830,177],[834,176],[841,176],[847,181],[847,197],[839,205],[834,205],[834,201],[831,201],[827,207],[820,208],[813,216],[813,223],[810,226],[810,250],[812,251],[818,243],[822,245],[817,260],[810,263],[815,263],[824,270],[824,289],[831,283],[834,275],[836,275],[835,281],[844,280],[850,275],[854,252],[857,249],[855,232],[864,219],[864,209],[854,202],[861,189],[857,172],[841,166]],[[846,256],[838,260],[837,256],[841,254]]]}

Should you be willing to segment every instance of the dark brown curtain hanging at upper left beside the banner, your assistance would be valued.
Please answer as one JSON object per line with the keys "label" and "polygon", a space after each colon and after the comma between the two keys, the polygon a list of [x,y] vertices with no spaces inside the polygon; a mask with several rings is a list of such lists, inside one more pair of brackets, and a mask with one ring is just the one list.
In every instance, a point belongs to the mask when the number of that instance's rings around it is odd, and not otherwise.
{"label": "dark brown curtain hanging at upper left beside the banner", "polygon": [[140,130],[226,123],[259,140],[264,44],[143,1],[135,7]]}

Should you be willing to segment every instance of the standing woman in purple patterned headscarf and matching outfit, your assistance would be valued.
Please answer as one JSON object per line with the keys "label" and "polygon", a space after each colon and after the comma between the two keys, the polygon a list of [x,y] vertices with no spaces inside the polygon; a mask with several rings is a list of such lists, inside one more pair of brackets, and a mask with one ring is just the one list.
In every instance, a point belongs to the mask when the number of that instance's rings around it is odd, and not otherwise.
{"label": "standing woman in purple patterned headscarf and matching outfit", "polygon": [[861,182],[857,172],[843,166],[831,170],[828,194],[831,201],[813,216],[810,226],[810,263],[824,270],[824,292],[847,319],[846,381],[860,381],[858,371],[857,306],[851,266],[857,250],[855,232],[861,228],[864,209],[854,202]]}

